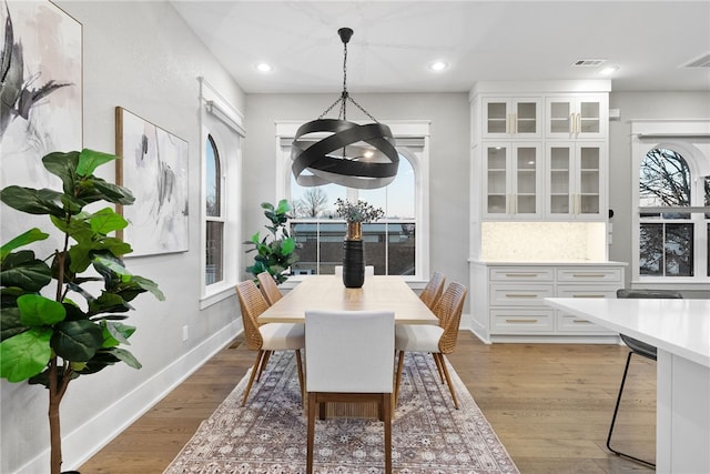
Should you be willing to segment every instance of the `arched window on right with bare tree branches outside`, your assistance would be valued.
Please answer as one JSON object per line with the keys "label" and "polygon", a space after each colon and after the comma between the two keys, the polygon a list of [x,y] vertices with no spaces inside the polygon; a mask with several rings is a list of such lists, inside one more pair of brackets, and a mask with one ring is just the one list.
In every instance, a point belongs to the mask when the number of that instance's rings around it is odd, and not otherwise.
{"label": "arched window on right with bare tree branches outside", "polygon": [[635,274],[646,283],[707,282],[710,157],[698,147],[701,143],[681,139],[637,144]]}

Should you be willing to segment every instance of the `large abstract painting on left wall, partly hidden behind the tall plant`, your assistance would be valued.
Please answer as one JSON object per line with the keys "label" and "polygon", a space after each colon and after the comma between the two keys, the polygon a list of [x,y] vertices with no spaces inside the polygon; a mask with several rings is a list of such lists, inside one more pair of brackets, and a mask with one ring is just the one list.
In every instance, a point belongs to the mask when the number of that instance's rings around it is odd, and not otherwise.
{"label": "large abstract painting on left wall, partly hidden behind the tall plant", "polygon": [[0,37],[0,184],[54,184],[42,157],[82,149],[82,26],[52,2],[10,1]]}

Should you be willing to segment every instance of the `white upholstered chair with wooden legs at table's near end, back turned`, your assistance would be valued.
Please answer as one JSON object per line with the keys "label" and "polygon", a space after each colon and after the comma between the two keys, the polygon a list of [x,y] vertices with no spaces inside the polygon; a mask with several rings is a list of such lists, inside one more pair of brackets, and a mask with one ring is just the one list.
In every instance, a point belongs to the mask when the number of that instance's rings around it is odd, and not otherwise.
{"label": "white upholstered chair with wooden legs at table's near end, back turned", "polygon": [[392,472],[395,315],[392,311],[306,311],[306,472],[313,473],[315,415],[331,402],[376,402]]}

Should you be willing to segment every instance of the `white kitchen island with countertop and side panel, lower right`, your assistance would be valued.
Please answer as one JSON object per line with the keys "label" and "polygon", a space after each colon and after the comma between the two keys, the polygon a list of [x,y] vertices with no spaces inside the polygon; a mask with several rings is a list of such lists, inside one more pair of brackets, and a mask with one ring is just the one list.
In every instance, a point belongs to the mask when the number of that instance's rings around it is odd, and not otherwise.
{"label": "white kitchen island with countertop and side panel, lower right", "polygon": [[710,300],[545,302],[657,347],[656,471],[710,473]]}

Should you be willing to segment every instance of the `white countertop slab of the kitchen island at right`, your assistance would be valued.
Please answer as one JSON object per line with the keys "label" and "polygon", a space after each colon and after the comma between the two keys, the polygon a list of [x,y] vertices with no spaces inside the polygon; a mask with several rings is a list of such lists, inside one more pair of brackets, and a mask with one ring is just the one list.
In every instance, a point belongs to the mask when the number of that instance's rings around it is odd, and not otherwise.
{"label": "white countertop slab of the kitchen island at right", "polygon": [[710,300],[546,297],[545,302],[710,367]]}

